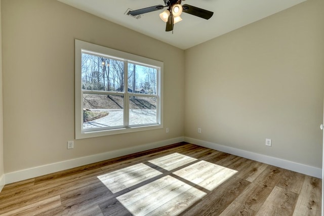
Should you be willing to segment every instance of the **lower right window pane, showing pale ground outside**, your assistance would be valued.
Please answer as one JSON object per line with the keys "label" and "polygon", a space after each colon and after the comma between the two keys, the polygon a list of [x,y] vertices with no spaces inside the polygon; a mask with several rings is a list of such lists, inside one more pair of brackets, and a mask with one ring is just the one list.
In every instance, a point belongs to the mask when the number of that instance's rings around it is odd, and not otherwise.
{"label": "lower right window pane, showing pale ground outside", "polygon": [[156,123],[156,97],[130,97],[130,125]]}

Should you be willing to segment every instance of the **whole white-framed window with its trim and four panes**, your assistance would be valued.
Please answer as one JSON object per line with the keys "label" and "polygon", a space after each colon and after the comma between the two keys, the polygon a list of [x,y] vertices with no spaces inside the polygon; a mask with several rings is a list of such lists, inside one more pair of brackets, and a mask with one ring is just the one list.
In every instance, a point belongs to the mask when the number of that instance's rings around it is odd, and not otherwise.
{"label": "whole white-framed window with its trim and four panes", "polygon": [[163,62],[75,40],[75,139],[163,127]]}

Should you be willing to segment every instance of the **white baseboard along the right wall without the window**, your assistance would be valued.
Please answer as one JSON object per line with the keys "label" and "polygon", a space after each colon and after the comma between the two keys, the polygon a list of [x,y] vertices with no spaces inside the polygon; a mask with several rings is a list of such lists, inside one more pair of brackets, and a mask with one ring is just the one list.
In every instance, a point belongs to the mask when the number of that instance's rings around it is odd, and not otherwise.
{"label": "white baseboard along the right wall without the window", "polygon": [[219,144],[206,142],[203,140],[197,140],[197,139],[193,139],[193,138],[189,138],[189,137],[185,137],[184,141],[188,142],[188,143],[195,144],[195,145],[215,149],[217,151],[221,151],[221,152],[237,155],[240,157],[248,158],[251,160],[256,160],[256,161],[270,164],[273,166],[300,172],[302,174],[305,174],[308,176],[313,176],[313,177],[316,177],[319,179],[322,178],[322,169],[321,168],[308,166],[308,165],[304,165],[301,163],[296,163],[296,162],[292,162],[292,161],[288,161],[288,160],[284,160],[284,159],[280,159],[280,158],[270,157],[267,155],[249,152],[249,151],[245,151],[245,150],[241,150],[241,149],[236,149],[236,148],[232,148],[232,147],[228,147],[228,146],[222,146]]}

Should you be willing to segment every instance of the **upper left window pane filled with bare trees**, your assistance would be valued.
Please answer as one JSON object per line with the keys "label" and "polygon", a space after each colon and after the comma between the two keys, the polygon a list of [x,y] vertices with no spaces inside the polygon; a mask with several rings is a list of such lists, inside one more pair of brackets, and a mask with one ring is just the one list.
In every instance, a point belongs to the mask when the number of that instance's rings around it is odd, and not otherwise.
{"label": "upper left window pane filled with bare trees", "polygon": [[124,92],[123,61],[82,53],[82,89]]}

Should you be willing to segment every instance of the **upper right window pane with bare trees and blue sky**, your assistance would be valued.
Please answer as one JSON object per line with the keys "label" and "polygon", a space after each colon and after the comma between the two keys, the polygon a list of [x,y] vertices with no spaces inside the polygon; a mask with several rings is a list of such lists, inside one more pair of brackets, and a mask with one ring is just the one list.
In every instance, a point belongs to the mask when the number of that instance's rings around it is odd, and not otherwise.
{"label": "upper right window pane with bare trees and blue sky", "polygon": [[156,95],[157,70],[137,64],[128,65],[128,92]]}

